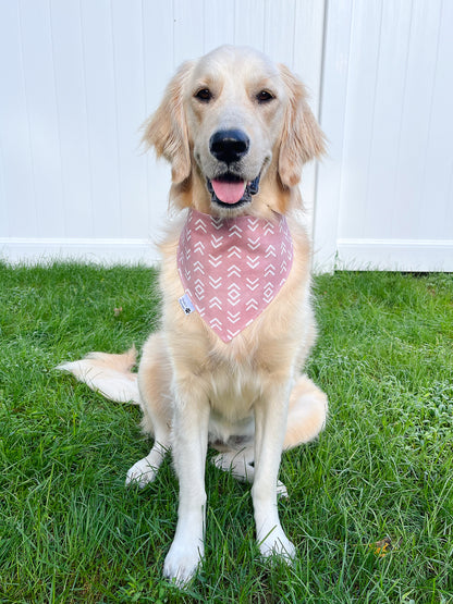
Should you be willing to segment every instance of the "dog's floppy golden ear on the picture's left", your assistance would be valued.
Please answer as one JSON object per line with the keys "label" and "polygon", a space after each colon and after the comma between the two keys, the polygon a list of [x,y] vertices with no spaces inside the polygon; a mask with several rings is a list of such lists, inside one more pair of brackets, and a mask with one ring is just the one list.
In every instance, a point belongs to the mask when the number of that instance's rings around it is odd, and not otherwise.
{"label": "dog's floppy golden ear on the picture's left", "polygon": [[191,175],[191,153],[187,123],[184,113],[184,84],[193,67],[183,63],[167,86],[162,102],[144,124],[143,141],[156,149],[157,157],[163,156],[171,163],[171,177],[179,184]]}

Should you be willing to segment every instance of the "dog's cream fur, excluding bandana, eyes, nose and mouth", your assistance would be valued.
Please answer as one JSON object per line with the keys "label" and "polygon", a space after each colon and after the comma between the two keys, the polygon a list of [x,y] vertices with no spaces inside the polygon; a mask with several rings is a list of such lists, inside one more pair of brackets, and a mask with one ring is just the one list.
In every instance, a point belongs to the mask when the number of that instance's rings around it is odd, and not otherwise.
{"label": "dog's cream fur, excluding bandana, eyes, nose and mouth", "polygon": [[[211,101],[199,102],[200,88],[212,93]],[[270,91],[272,100],[258,103],[260,90]],[[250,139],[242,174],[252,180],[260,172],[260,188],[248,206],[217,208],[206,187],[206,177],[217,170],[208,141],[215,131],[233,127]],[[310,247],[296,220],[302,204],[296,185],[303,163],[322,152],[323,137],[298,79],[259,52],[234,47],[185,63],[145,125],[144,137],[171,162],[170,200],[176,208],[266,219],[284,213],[294,244],[293,267],[276,299],[240,335],[223,343],[196,312],[184,315],[177,301],[184,293],[176,266],[184,212],[160,246],[162,329],[143,348],[139,397],[135,374],[130,373],[131,353],[94,353],[61,366],[113,399],[128,396],[140,404],[143,427],[155,441],[149,455],[128,470],[127,483],[144,486],[152,481],[167,451],[172,451],[180,507],[164,575],[185,583],[204,556],[208,441],[219,452],[217,467],[253,483],[261,554],[295,555],[277,509],[277,493],[286,494],[278,481],[281,453],[316,437],[327,417],[326,395],[299,375],[316,328]]]}

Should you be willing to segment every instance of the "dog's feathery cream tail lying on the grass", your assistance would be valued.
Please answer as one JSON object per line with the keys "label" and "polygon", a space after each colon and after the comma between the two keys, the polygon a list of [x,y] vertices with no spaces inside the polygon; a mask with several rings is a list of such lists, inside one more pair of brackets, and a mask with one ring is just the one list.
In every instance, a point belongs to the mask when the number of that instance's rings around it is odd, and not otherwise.
{"label": "dog's feathery cream tail lying on the grass", "polygon": [[131,371],[136,358],[135,347],[123,355],[89,353],[81,360],[63,362],[56,369],[69,371],[110,400],[139,405],[137,374]]}

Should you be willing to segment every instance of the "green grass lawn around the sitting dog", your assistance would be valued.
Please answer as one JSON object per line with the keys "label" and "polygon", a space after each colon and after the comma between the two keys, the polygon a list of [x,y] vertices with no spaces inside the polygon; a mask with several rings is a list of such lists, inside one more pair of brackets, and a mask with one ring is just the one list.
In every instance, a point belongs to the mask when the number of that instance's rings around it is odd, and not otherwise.
{"label": "green grass lawn around the sitting dog", "polygon": [[[298,559],[259,559],[249,488],[209,466],[206,563],[184,593],[161,579],[170,460],[125,489],[149,448],[138,409],[52,369],[139,347],[155,282],[146,268],[0,264],[0,602],[453,602],[453,276],[316,280],[308,371],[330,418],[284,455],[279,504]],[[370,544],[385,537],[400,544],[381,557]]]}

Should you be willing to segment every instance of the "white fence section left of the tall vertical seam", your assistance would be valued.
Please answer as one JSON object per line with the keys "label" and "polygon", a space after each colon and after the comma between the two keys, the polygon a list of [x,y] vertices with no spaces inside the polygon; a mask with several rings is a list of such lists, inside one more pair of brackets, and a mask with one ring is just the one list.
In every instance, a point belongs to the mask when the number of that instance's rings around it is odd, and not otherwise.
{"label": "white fence section left of the tall vertical seam", "polygon": [[317,112],[322,27],[322,0],[2,2],[0,255],[151,260],[169,169],[138,128],[175,67],[255,46],[305,78]]}

